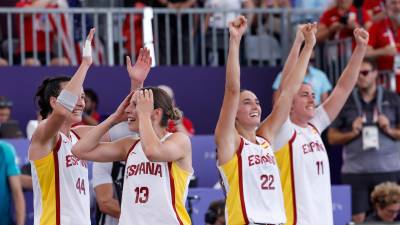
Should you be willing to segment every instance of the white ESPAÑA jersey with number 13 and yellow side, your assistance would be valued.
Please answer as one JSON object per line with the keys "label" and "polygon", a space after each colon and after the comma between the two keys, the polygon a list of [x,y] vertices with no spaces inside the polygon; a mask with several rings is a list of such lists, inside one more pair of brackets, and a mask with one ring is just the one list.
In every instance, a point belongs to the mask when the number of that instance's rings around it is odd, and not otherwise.
{"label": "white ESPA\u00d1A jersey with number 13 and yellow side", "polygon": [[119,224],[191,224],[185,208],[191,176],[176,162],[149,161],[137,141],[127,155]]}

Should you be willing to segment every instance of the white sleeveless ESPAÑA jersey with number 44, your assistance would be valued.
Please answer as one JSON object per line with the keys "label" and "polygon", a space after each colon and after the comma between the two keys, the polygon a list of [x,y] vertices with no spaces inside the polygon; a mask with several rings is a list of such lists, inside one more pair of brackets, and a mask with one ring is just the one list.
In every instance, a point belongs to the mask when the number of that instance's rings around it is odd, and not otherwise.
{"label": "white sleeveless ESPA\u00d1A jersey with number 44", "polygon": [[54,149],[31,161],[35,225],[89,225],[90,200],[86,161],[71,152],[71,140],[59,133]]}

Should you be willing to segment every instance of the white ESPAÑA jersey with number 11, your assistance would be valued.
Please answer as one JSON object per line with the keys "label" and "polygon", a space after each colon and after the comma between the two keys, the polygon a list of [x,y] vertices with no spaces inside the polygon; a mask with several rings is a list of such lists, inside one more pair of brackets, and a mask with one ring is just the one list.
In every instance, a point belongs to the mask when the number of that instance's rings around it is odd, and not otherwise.
{"label": "white ESPA\u00d1A jersey with number 11", "polygon": [[306,128],[292,123],[277,135],[293,134],[275,152],[284,193],[287,224],[333,225],[329,160],[320,133],[330,124],[322,106]]}

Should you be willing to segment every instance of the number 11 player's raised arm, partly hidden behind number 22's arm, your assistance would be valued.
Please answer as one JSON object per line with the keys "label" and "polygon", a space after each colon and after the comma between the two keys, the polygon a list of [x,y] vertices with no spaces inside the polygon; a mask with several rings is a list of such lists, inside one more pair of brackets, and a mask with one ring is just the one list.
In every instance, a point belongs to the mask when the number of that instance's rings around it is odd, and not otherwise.
{"label": "number 11 player's raised arm, partly hidden behind number 22's arm", "polygon": [[[274,99],[278,99],[280,96],[280,91],[282,90],[282,87],[286,87],[288,84],[288,77],[291,74],[293,68],[297,64],[297,60],[299,59],[299,53],[300,53],[300,48],[301,44],[304,41],[304,35],[302,33],[302,27],[304,25],[299,25],[297,27],[297,32],[296,32],[296,37],[294,39],[292,48],[290,49],[289,55],[286,59],[285,65],[283,66],[282,70],[282,75],[281,75],[281,82],[279,84],[278,89],[276,90],[276,93],[274,93]],[[275,101],[274,101],[275,102]]]}

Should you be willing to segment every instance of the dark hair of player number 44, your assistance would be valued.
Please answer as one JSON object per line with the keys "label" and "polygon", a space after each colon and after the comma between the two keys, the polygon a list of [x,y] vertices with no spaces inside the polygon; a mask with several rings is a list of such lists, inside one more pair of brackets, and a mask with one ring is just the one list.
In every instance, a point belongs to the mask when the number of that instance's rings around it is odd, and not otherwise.
{"label": "dark hair of player number 44", "polygon": [[40,115],[43,119],[53,111],[50,106],[50,97],[57,97],[60,94],[61,86],[63,82],[70,81],[70,77],[49,77],[42,81],[42,84],[38,87],[35,95],[35,102],[40,109]]}

